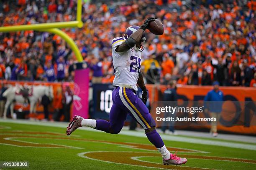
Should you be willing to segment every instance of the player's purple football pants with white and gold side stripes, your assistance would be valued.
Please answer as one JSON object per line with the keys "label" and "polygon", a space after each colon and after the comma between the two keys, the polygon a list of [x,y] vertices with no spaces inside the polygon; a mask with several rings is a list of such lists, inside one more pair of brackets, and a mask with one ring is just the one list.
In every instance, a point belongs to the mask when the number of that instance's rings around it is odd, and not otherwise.
{"label": "player's purple football pants with white and gold side stripes", "polygon": [[[97,120],[97,130],[106,133],[118,134],[123,128],[127,115],[135,119],[145,130],[156,126],[146,105],[138,98],[134,90],[125,87],[115,87],[112,93],[113,105],[110,110],[109,122],[106,120]],[[156,130],[147,133],[148,140],[156,148],[164,146],[164,142]]]}

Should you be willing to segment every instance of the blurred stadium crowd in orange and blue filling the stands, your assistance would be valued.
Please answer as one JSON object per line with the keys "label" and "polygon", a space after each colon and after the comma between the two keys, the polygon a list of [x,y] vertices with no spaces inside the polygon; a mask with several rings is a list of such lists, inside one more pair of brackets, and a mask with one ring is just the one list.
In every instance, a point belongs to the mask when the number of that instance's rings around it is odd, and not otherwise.
{"label": "blurred stadium crowd in orange and blue filling the stands", "polygon": [[[72,21],[76,0],[0,2],[0,25]],[[164,35],[146,31],[141,70],[147,83],[256,87],[255,0],[83,0],[82,28],[63,29],[89,63],[92,82],[111,83],[111,40],[154,16]],[[72,81],[75,56],[57,35],[0,32],[0,79]]]}

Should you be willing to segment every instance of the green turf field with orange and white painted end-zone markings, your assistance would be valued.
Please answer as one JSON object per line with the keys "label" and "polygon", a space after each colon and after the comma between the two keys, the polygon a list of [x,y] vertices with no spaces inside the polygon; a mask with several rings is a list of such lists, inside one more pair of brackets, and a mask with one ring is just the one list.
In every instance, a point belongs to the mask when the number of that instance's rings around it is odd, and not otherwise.
{"label": "green turf field with orange and white painted end-zone markings", "polygon": [[[256,170],[256,144],[212,140],[216,145],[203,145],[200,140],[210,141],[209,138],[175,136],[174,139],[184,141],[164,140],[164,143],[173,153],[178,150],[177,155],[188,162],[182,166],[164,166],[160,153],[142,132],[134,132],[137,136],[131,131],[123,131],[128,135],[111,135],[84,128],[67,136],[64,125],[0,120],[0,161],[28,162],[29,167],[19,168],[22,170]],[[8,169],[18,168],[0,168]]]}

